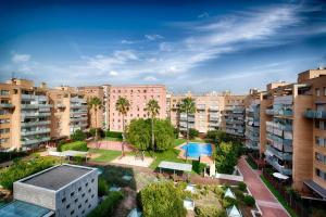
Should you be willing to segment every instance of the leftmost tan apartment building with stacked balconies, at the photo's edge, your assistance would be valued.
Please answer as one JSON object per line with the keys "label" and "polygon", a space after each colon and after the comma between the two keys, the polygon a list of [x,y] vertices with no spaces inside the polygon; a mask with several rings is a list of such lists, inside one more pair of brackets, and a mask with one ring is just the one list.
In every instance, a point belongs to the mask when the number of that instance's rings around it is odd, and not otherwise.
{"label": "leftmost tan apartment building with stacked balconies, at the photo's edge", "polygon": [[46,85],[25,79],[0,84],[0,146],[29,149],[50,140],[50,108]]}

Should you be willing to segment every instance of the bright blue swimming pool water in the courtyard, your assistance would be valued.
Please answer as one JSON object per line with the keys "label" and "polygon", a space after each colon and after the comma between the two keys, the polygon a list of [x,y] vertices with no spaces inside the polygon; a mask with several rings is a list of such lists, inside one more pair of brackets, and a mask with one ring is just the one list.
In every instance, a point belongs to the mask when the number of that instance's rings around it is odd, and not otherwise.
{"label": "bright blue swimming pool water in the courtyard", "polygon": [[203,143],[196,143],[196,142],[189,142],[188,145],[184,144],[181,149],[185,150],[185,156],[187,153],[187,146],[188,146],[188,157],[199,158],[200,155],[212,156],[211,144],[203,144]]}

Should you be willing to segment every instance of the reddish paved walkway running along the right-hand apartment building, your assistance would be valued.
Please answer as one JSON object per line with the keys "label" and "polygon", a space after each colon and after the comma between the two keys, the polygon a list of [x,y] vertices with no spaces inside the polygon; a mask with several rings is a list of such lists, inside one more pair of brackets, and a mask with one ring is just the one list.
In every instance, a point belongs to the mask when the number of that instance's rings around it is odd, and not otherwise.
{"label": "reddish paved walkway running along the right-hand apartment building", "polygon": [[288,213],[278,203],[275,196],[269,192],[267,187],[259,177],[259,173],[254,171],[244,157],[241,157],[238,164],[240,171],[243,175],[244,182],[254,196],[260,206],[263,217],[288,217]]}

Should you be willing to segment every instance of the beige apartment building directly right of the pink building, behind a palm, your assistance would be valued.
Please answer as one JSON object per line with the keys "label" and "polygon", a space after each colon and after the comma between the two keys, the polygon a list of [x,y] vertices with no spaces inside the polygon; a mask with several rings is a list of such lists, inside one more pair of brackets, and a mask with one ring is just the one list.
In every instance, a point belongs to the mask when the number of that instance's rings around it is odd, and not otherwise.
{"label": "beige apartment building directly right of the pink building, behind a palm", "polygon": [[[187,114],[181,113],[179,105],[185,98],[192,98],[196,104],[196,113]],[[202,95],[196,95],[191,92],[186,94],[171,94],[170,95],[170,117],[172,124],[178,127],[180,131],[188,127],[195,128],[201,133],[205,133],[209,130],[220,129],[223,126],[223,110],[225,97],[216,92],[210,92]]]}

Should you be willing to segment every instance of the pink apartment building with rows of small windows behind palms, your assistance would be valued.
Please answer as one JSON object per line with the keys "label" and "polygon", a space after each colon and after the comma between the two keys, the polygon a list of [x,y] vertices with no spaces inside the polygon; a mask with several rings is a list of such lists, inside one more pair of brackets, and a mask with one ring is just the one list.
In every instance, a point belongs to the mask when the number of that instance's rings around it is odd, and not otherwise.
{"label": "pink apartment building with rows of small windows behind palms", "polygon": [[110,87],[110,130],[122,131],[122,115],[115,110],[115,103],[120,97],[126,98],[130,102],[130,110],[125,116],[128,125],[134,118],[147,118],[148,112],[145,110],[149,100],[159,102],[160,114],[158,118],[166,118],[166,89],[163,85],[140,85],[140,86],[111,86]]}

